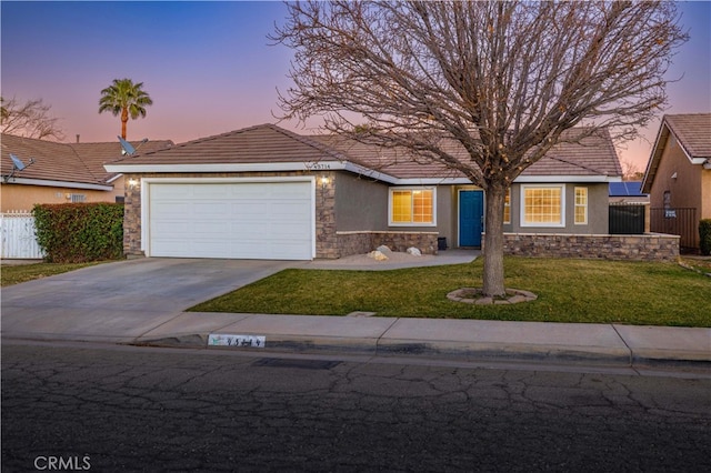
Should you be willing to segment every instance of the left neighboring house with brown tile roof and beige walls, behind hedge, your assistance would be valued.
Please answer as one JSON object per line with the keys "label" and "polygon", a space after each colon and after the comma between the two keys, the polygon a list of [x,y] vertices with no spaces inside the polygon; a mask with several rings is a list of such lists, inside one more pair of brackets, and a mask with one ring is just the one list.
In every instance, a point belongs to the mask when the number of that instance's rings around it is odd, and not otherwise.
{"label": "left neighboring house with brown tile roof and beige walls, behind hedge", "polygon": [[[103,163],[121,157],[121,145],[113,143],[57,143],[2,134],[0,170],[1,211],[30,211],[37,203],[120,202],[123,175],[107,172]],[[140,150],[151,151],[171,145],[171,141],[149,141]],[[136,143],[134,145],[139,145]],[[10,154],[24,164],[12,177]]]}

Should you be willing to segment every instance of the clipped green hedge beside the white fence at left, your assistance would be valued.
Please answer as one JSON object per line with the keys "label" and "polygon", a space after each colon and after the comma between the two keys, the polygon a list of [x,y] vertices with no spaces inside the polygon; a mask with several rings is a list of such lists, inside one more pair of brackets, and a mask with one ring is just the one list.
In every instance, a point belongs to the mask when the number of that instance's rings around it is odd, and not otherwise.
{"label": "clipped green hedge beside the white fence at left", "polygon": [[122,203],[38,204],[32,214],[37,241],[50,263],[123,258]]}

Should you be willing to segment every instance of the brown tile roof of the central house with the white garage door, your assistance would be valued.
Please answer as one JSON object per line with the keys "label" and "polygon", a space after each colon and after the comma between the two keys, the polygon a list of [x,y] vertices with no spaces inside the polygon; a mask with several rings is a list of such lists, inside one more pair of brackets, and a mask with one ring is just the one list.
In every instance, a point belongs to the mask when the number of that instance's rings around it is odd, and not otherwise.
{"label": "brown tile roof of the central house with the white garage door", "polygon": [[[451,152],[465,158],[452,141]],[[300,135],[274,124],[261,124],[171,147],[168,150],[126,157],[111,164],[252,164],[308,161],[349,161],[399,179],[462,178],[458,171],[418,159],[400,148],[358,143],[336,135]],[[560,143],[524,175],[622,175],[608,133],[582,144]]]}

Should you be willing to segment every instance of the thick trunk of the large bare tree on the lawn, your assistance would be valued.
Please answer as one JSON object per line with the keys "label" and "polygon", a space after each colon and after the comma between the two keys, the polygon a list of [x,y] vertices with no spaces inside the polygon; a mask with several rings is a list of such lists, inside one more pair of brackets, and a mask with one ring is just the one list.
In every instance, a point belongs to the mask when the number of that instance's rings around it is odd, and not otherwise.
{"label": "thick trunk of the large bare tree on the lawn", "polygon": [[507,187],[503,184],[492,184],[487,189],[482,292],[488,296],[505,294],[503,285],[503,202],[505,193]]}

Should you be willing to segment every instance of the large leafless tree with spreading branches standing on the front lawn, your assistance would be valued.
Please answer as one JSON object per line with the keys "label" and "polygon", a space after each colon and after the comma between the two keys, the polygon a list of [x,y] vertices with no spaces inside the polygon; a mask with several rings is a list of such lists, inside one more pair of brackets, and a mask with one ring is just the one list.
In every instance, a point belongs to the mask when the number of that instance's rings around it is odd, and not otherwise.
{"label": "large leafless tree with spreading branches standing on the front lawn", "polygon": [[[687,40],[673,2],[660,1],[288,8],[271,37],[294,50],[294,85],[280,97],[283,118],[321,114],[328,131],[404,147],[481,187],[487,295],[504,293],[502,220],[511,182],[561,140],[578,142],[603,128],[634,137],[663,109],[663,74]],[[365,125],[356,127],[354,115]],[[452,140],[463,155],[450,151]]]}

